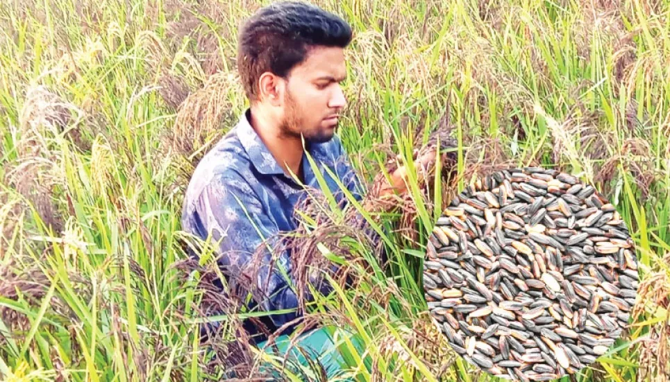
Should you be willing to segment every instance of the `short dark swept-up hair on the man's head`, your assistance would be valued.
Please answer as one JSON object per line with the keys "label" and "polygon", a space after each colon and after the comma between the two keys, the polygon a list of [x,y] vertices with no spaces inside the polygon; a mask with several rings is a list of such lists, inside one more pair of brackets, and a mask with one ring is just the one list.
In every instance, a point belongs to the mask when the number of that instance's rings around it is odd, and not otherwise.
{"label": "short dark swept-up hair on the man's head", "polygon": [[286,78],[313,46],[345,48],[351,42],[351,26],[317,6],[281,1],[258,10],[242,26],[238,40],[240,80],[249,100],[257,101],[262,73]]}

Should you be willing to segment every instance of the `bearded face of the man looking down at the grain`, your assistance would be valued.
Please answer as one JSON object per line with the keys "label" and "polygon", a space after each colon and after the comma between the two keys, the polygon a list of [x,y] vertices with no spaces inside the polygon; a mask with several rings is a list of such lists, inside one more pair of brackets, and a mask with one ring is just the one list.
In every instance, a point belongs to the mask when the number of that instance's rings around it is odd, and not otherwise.
{"label": "bearded face of the man looking down at the grain", "polygon": [[319,46],[290,73],[283,93],[282,134],[322,143],[335,134],[346,106],[340,83],[346,77],[344,49]]}

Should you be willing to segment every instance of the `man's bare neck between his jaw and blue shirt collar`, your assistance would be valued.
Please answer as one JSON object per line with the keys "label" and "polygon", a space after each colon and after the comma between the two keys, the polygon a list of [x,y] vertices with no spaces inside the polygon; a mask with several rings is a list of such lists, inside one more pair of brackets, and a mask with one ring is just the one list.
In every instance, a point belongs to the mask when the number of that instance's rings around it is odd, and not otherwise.
{"label": "man's bare neck between his jaw and blue shirt collar", "polygon": [[260,140],[263,141],[267,150],[276,159],[284,173],[291,177],[288,169],[296,174],[301,182],[303,173],[301,163],[303,159],[303,144],[299,137],[286,137],[281,134],[276,125],[276,120],[268,116],[262,110],[251,107],[251,118],[249,120],[251,128],[256,131]]}

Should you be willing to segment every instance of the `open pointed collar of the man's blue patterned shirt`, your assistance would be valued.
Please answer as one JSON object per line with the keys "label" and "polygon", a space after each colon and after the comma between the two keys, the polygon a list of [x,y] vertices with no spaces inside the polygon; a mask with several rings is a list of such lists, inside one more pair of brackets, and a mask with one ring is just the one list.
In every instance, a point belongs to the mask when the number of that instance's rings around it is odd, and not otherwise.
{"label": "open pointed collar of the man's blue patterned shirt", "polygon": [[[259,173],[265,175],[285,175],[281,166],[279,166],[277,160],[274,158],[272,153],[269,152],[265,143],[256,133],[256,130],[253,130],[251,123],[249,123],[249,117],[251,116],[251,109],[247,109],[242,116],[240,121],[237,123],[237,138],[240,139],[240,144],[246,150],[246,154],[249,155],[251,163]],[[324,153],[323,144],[311,144],[308,145],[308,153],[312,156],[312,159],[315,160],[317,164],[320,161],[324,161],[327,158],[326,153]],[[307,168],[304,168],[304,164],[309,166],[309,163],[306,161],[306,157],[303,154],[303,171],[308,171]],[[311,173],[311,171],[310,171]]]}

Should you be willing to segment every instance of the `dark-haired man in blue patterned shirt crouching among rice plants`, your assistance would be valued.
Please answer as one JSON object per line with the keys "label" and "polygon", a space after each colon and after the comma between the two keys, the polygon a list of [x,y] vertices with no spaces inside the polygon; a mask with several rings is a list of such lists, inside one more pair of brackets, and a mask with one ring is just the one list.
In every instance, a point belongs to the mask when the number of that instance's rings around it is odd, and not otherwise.
{"label": "dark-haired man in blue patterned shirt crouching among rice plants", "polygon": [[[290,253],[275,254],[273,267],[267,247],[274,248],[279,232],[297,228],[293,211],[305,196],[300,183],[320,189],[305,149],[338,202],[346,198],[326,167],[362,199],[335,135],[346,107],[340,84],[346,78],[344,49],[351,37],[342,18],[305,3],[274,3],[246,21],[239,35],[237,69],[250,107],[201,159],[186,191],[183,228],[203,240],[211,235],[219,243],[219,263],[226,275],[239,274],[259,246],[266,248],[256,287],[267,298],[253,302],[262,311],[296,309],[299,304],[290,279]],[[434,159],[428,154],[417,163],[428,166]],[[403,167],[392,173],[384,195],[406,191],[404,174]],[[274,331],[297,317],[296,311],[274,314],[264,323]],[[256,334],[253,327],[247,329]],[[256,342],[261,340],[265,337],[258,336]]]}

